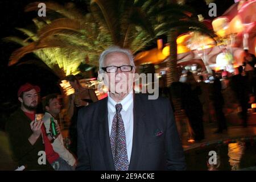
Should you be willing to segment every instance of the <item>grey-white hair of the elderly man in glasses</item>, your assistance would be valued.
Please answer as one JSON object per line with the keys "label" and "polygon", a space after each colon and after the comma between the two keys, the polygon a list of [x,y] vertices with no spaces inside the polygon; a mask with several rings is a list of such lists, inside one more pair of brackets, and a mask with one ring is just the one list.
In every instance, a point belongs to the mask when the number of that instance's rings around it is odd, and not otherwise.
{"label": "grey-white hair of the elderly man in glasses", "polygon": [[113,47],[109,47],[108,49],[106,49],[105,51],[103,51],[100,55],[100,59],[98,60],[98,63],[100,64],[100,73],[102,73],[102,67],[104,67],[104,61],[105,61],[105,58],[106,56],[109,54],[109,53],[112,53],[112,52],[121,52],[121,53],[124,53],[125,55],[127,55],[129,57],[129,60],[130,60],[130,65],[133,66],[133,68],[135,69],[135,64],[134,64],[134,60],[133,60],[133,55],[132,53],[130,52],[129,49],[124,49],[124,48],[120,48],[118,46],[113,46]]}

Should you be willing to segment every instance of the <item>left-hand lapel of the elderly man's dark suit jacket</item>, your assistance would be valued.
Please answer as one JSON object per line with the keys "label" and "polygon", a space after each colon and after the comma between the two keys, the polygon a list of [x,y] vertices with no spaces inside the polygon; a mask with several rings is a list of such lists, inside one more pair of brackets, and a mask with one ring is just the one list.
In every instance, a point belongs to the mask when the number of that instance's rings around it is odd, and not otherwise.
{"label": "left-hand lapel of the elderly man's dark suit jacket", "polygon": [[101,151],[104,157],[106,170],[115,170],[112,150],[109,139],[109,123],[108,123],[108,97],[105,98],[99,107],[98,121],[100,121],[99,137]]}

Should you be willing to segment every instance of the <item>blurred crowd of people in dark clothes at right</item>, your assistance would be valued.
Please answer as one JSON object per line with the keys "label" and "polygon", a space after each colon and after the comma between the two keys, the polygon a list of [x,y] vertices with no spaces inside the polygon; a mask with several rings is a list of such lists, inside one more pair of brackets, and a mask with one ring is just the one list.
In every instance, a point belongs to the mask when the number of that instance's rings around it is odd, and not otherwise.
{"label": "blurred crowd of people in dark clothes at right", "polygon": [[[242,126],[247,127],[247,110],[255,102],[256,59],[245,50],[243,65],[230,73],[225,68],[212,73],[180,72],[180,79],[170,88],[159,82],[159,93],[169,97],[175,109],[177,126],[182,136],[185,131],[196,142],[204,139],[205,123],[217,123],[215,134],[228,130],[226,114],[237,113]],[[188,139],[189,139],[188,138]]]}

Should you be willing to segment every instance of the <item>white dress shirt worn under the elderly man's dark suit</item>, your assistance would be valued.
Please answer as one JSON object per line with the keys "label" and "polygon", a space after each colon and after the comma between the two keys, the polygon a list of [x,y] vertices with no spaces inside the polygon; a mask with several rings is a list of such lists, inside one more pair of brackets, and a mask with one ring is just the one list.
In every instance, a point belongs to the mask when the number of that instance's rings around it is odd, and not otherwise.
{"label": "white dress shirt worn under the elderly man's dark suit", "polygon": [[119,103],[122,104],[121,115],[125,125],[126,148],[130,163],[131,148],[133,146],[133,93],[129,93],[121,102],[115,102],[108,94],[109,137],[115,115],[115,105]]}

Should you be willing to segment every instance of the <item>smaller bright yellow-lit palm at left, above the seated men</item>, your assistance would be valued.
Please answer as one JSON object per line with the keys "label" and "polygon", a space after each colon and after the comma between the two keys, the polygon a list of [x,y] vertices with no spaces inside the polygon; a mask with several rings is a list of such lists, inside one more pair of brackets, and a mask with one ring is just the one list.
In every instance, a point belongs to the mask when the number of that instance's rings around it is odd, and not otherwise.
{"label": "smaller bright yellow-lit palm at left, above the seated men", "polygon": [[[42,22],[38,22],[36,19],[34,19],[34,23],[36,26],[40,25],[42,26]],[[36,60],[27,60],[23,61],[20,64],[36,64],[40,67],[44,67],[46,69],[49,69],[49,71],[52,71],[55,73],[58,77],[64,77],[65,75],[69,74],[76,74],[78,73],[77,67],[79,67],[81,60],[85,58],[86,54],[84,52],[78,52],[77,49],[74,47],[67,48],[68,46],[64,46],[65,43],[61,41],[61,39],[57,38],[51,38],[46,39],[40,44],[36,44],[39,40],[36,33],[27,30],[26,28],[17,28],[17,30],[23,32],[25,35],[28,36],[27,39],[21,39],[15,36],[10,36],[5,38],[4,40],[6,42],[15,42],[23,46],[19,49],[19,52],[14,52],[16,56],[22,57],[19,53],[26,53],[26,49],[33,48],[33,47],[41,47],[40,49],[36,49],[34,51],[34,54],[42,61],[36,61]],[[60,47],[62,45],[62,47]],[[72,62],[70,61],[72,60]],[[16,62],[11,57],[11,61],[9,62],[9,65],[13,65]]]}

